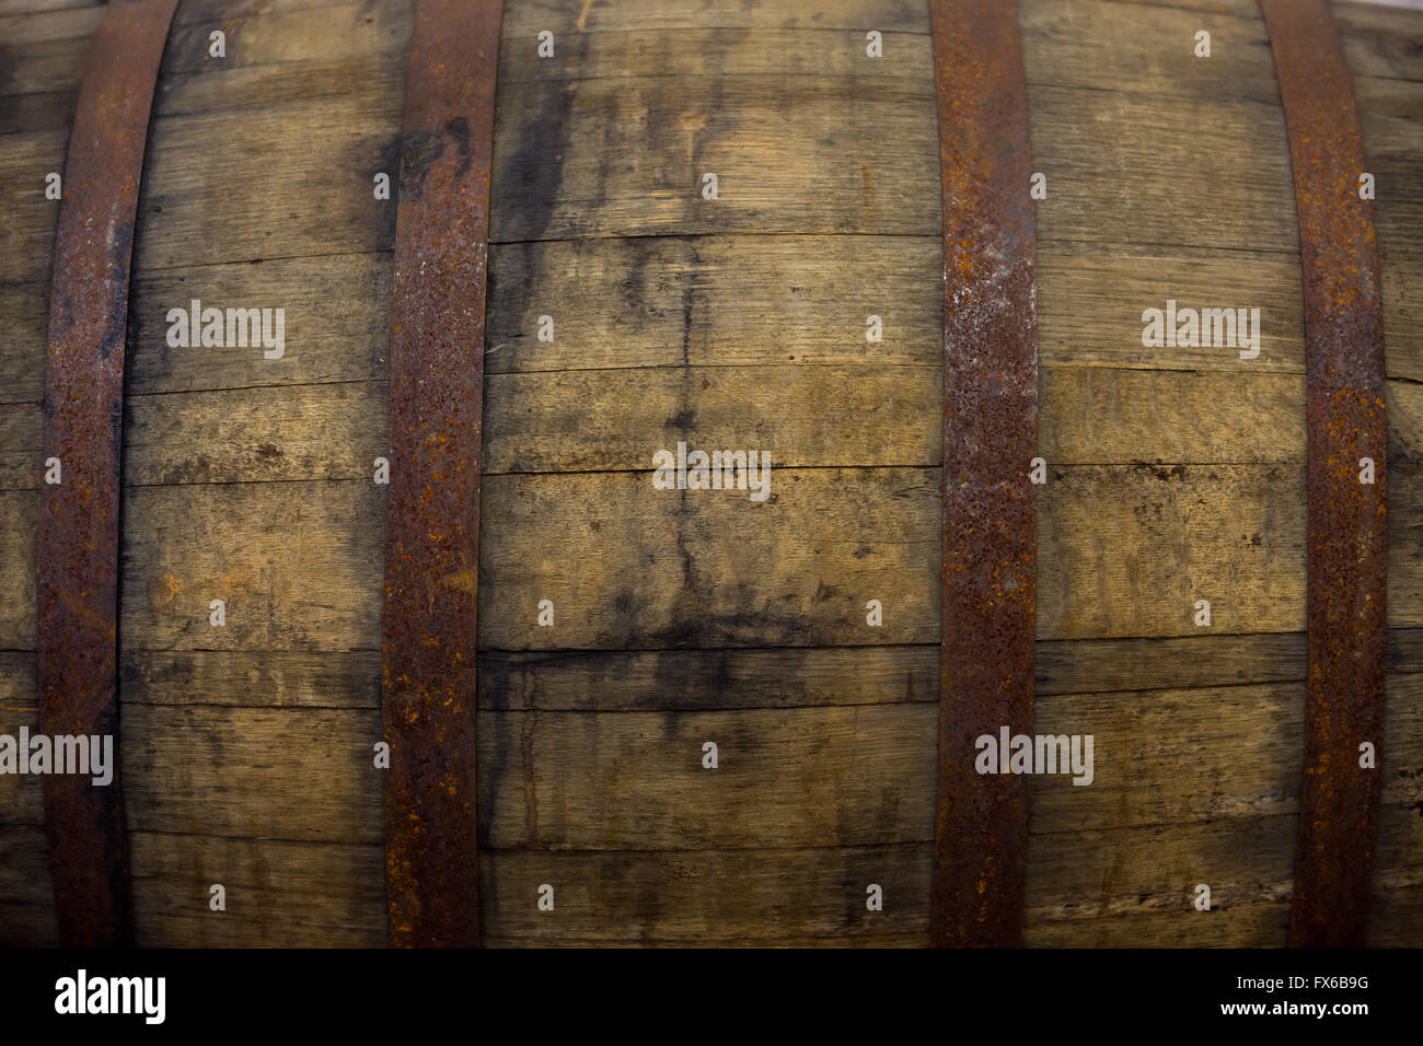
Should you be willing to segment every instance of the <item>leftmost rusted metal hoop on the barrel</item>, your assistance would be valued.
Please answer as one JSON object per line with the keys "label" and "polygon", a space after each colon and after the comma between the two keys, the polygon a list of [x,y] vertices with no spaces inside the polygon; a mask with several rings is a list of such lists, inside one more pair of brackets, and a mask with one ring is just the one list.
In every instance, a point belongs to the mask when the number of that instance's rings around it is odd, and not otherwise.
{"label": "leftmost rusted metal hoop on the barrel", "polygon": [[[154,84],[176,0],[111,0],[80,88],[50,283],[40,492],[40,730],[118,753],[118,512],[128,272]],[[51,467],[47,467],[50,471]],[[51,471],[53,475],[53,471]],[[132,942],[118,771],[47,774],[60,942]]]}

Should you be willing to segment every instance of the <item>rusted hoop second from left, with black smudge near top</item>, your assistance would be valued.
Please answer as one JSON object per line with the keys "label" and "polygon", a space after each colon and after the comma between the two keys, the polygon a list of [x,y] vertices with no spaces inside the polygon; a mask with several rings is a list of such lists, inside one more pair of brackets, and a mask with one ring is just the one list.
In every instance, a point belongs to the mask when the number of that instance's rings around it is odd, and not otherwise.
{"label": "rusted hoop second from left, with black smudge near top", "polygon": [[480,944],[474,764],[484,280],[501,0],[420,0],[401,132],[386,508],[396,946]]}

